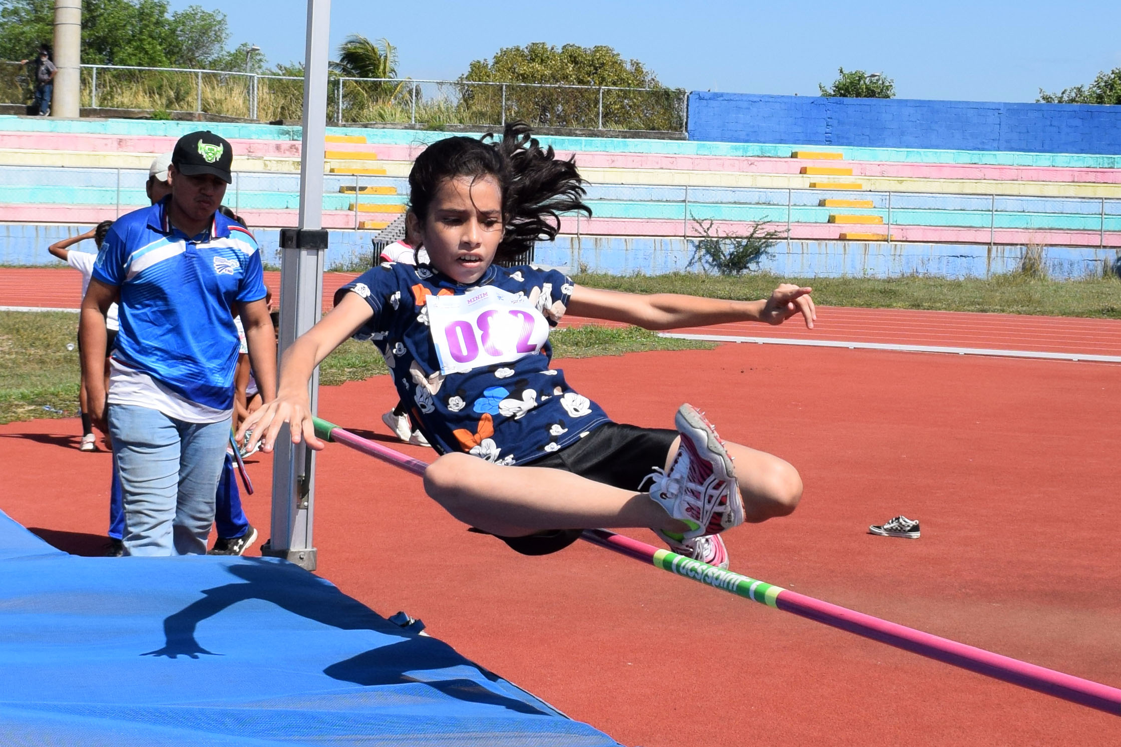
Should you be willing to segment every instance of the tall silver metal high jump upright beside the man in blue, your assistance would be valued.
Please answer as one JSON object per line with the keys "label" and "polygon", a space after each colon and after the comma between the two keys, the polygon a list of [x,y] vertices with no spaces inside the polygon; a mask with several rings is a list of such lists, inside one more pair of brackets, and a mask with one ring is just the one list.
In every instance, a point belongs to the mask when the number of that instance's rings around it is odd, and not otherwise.
{"label": "tall silver metal high jump upright beside the man in blue", "polygon": [[[319,320],[323,305],[323,164],[327,129],[327,53],[331,0],[308,0],[304,63],[303,159],[299,168],[299,228],[280,231],[280,352]],[[318,369],[308,384],[308,403],[316,412]],[[286,557],[315,569],[312,526],[315,509],[315,457],[303,443],[291,443],[281,428],[272,457],[272,536],[262,554]]]}

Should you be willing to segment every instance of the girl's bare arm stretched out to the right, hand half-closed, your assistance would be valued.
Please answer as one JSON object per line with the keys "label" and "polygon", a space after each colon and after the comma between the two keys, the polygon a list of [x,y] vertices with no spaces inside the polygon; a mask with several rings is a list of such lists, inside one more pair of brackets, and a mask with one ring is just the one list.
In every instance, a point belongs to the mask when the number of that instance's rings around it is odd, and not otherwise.
{"label": "girl's bare arm stretched out to the right, hand half-closed", "polygon": [[634,324],[647,330],[673,330],[725,322],[781,324],[791,316],[802,314],[806,326],[813,329],[817,310],[809,295],[812,292],[813,288],[784,283],[775,288],[770,298],[724,301],[675,293],[621,293],[577,285],[568,302],[568,313]]}

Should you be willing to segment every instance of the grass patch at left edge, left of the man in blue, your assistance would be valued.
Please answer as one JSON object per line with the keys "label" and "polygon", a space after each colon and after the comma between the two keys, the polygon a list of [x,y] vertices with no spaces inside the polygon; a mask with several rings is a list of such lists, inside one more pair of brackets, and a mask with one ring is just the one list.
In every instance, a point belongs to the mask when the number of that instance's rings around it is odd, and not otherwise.
{"label": "grass patch at left edge, left of the man in blue", "polygon": [[0,423],[74,417],[81,379],[77,314],[0,312]]}

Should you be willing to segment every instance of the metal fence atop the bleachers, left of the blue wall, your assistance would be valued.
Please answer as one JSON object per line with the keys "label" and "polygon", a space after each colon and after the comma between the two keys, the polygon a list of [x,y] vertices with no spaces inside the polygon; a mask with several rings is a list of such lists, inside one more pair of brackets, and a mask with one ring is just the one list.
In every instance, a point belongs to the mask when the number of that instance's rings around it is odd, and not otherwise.
{"label": "metal fence atop the bleachers, left of the blue wall", "polygon": [[[26,103],[26,71],[0,73],[0,100]],[[82,65],[82,105],[195,111],[252,120],[298,120],[304,79],[237,71]],[[331,75],[328,111],[339,125],[464,125],[686,132],[688,92],[614,85],[491,83]]]}

